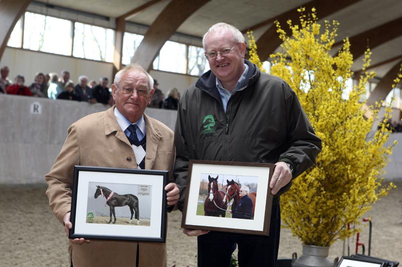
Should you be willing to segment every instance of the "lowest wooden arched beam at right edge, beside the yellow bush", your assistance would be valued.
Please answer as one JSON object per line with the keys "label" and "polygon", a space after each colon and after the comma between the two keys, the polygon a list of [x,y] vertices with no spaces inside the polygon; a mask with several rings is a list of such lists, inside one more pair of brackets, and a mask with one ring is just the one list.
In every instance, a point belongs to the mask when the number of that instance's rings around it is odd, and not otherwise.
{"label": "lowest wooden arched beam at right edge, beside the yellow bush", "polygon": [[393,80],[396,78],[396,75],[398,75],[400,64],[402,64],[402,60],[396,63],[392,69],[382,77],[367,99],[367,105],[374,105],[376,101],[381,101],[386,98],[392,90]]}

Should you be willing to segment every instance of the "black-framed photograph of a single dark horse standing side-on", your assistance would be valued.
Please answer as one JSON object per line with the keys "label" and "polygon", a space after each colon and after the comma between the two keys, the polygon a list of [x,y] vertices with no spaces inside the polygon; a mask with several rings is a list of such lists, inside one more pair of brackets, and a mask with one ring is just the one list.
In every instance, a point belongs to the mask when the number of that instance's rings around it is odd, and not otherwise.
{"label": "black-framed photograph of a single dark horse standing side-on", "polygon": [[166,241],[168,171],[74,166],[69,238]]}

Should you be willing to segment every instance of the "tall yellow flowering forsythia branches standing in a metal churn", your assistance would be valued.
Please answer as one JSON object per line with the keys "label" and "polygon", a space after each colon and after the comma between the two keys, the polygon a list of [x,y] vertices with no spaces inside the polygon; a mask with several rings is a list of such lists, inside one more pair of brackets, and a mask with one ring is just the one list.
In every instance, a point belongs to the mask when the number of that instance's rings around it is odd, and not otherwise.
{"label": "tall yellow flowering forsythia branches standing in a metal churn", "polygon": [[[394,187],[380,178],[392,146],[384,146],[390,134],[385,123],[370,134],[379,105],[373,108],[371,118],[365,118],[365,103],[359,101],[368,79],[375,75],[366,71],[371,53],[366,51],[364,74],[346,97],[353,64],[349,41],[344,40],[339,53],[331,56],[338,23],[325,22],[321,29],[315,9],[310,15],[304,11],[299,9],[299,25],[287,22],[291,36],[276,22],[283,44],[282,52],[270,56],[271,74],[284,79],[296,92],[323,141],[323,150],[315,167],[293,180],[281,197],[281,217],[303,243],[329,246],[359,231],[361,217],[370,205]],[[252,33],[249,39],[250,59],[261,67]],[[388,118],[389,111],[384,120]]]}

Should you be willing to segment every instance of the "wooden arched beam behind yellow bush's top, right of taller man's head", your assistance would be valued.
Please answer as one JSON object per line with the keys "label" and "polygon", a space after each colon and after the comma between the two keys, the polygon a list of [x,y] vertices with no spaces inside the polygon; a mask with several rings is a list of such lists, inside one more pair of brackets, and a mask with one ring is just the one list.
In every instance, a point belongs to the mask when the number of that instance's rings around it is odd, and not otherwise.
{"label": "wooden arched beam behind yellow bush's top, right of taller man's head", "polygon": [[[323,19],[359,1],[361,0],[313,0],[303,5],[303,7],[306,8],[307,12],[311,11],[312,8],[316,8],[318,18]],[[298,21],[299,15],[300,14],[297,12],[296,8],[282,13],[277,17],[276,20],[280,23],[282,29],[289,34],[290,29],[287,27],[286,21],[289,19],[293,22]],[[276,33],[276,26],[272,25],[256,42],[257,54],[260,57],[260,60],[267,60],[269,55],[272,54],[281,43],[282,41],[279,39],[278,34]]]}

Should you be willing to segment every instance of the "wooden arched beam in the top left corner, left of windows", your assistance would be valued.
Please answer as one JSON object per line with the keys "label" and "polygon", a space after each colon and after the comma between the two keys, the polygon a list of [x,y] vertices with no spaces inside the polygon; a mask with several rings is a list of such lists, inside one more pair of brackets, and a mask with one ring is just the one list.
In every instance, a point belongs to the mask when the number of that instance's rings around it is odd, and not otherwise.
{"label": "wooden arched beam in the top left corner, left of windows", "polygon": [[0,1],[0,60],[16,23],[27,10],[31,0]]}

